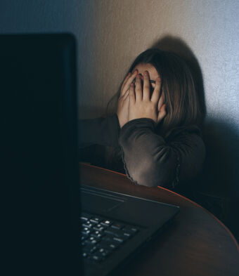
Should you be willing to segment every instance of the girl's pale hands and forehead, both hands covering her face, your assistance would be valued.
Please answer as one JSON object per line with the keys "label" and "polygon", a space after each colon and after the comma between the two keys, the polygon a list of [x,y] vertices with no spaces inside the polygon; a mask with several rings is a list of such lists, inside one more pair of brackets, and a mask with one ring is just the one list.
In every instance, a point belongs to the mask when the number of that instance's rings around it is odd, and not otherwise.
{"label": "girl's pale hands and forehead, both hands covering her face", "polygon": [[[152,76],[152,77],[150,77]],[[150,118],[159,123],[166,115],[161,79],[155,67],[139,64],[122,84],[117,115],[120,127],[132,119]]]}

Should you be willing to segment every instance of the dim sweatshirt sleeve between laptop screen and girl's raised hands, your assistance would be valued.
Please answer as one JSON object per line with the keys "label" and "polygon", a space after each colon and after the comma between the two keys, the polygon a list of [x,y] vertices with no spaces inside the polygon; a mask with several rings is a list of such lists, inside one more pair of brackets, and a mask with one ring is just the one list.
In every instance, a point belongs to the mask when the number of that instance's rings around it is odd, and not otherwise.
{"label": "dim sweatshirt sleeve between laptop screen and girl's raised hands", "polygon": [[117,147],[120,123],[117,114],[106,118],[79,120],[79,148],[90,145]]}

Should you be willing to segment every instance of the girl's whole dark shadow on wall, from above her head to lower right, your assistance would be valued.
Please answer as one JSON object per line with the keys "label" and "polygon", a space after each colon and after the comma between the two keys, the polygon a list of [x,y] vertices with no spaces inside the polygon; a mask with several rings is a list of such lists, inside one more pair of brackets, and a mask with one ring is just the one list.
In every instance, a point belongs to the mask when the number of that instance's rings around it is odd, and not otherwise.
{"label": "girl's whole dark shadow on wall, from above her head to lower right", "polygon": [[202,71],[197,58],[181,39],[166,36],[151,47],[178,54],[190,67],[205,121],[202,134],[207,149],[193,199],[221,219],[239,239],[239,133],[235,131],[238,126],[228,124],[222,114],[219,118],[206,118]]}

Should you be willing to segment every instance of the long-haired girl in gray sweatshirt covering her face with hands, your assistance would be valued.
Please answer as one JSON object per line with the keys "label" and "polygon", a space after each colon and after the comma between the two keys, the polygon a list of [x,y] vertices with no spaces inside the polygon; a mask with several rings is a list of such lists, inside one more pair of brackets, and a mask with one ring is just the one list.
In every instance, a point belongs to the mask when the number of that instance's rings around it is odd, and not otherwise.
{"label": "long-haired girl in gray sweatshirt covering her face with hands", "polygon": [[[81,160],[126,173],[138,185],[163,186],[187,195],[205,159],[205,145],[186,63],[174,53],[144,51],[108,107],[114,100],[117,107],[108,117],[79,121]],[[87,159],[90,145],[104,148],[105,161],[90,154]]]}

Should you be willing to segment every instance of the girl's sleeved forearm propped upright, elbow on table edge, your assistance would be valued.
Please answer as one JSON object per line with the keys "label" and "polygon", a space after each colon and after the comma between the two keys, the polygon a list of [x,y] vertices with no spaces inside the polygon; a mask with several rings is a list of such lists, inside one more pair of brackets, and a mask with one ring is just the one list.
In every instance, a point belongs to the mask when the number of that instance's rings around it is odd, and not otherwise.
{"label": "girl's sleeved forearm propped upright, elbow on table edge", "polygon": [[176,155],[164,138],[158,136],[151,119],[129,121],[120,131],[124,166],[131,180],[149,187],[172,183]]}

